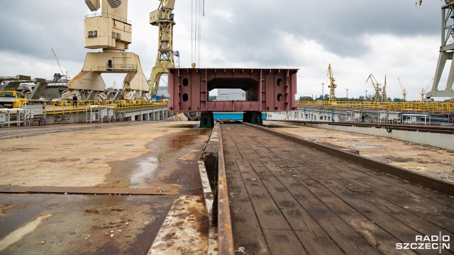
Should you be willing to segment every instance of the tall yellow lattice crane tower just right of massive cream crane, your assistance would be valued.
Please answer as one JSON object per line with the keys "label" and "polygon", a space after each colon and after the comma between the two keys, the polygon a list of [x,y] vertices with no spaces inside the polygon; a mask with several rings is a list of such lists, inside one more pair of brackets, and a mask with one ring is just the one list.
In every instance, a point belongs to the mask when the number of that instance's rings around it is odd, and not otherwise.
{"label": "tall yellow lattice crane tower just right of massive cream crane", "polygon": [[172,10],[175,0],[160,1],[156,11],[150,13],[150,24],[158,27],[157,57],[150,77],[150,92],[157,93],[159,80],[162,74],[167,74],[169,68],[175,67],[173,60],[173,26],[175,25]]}

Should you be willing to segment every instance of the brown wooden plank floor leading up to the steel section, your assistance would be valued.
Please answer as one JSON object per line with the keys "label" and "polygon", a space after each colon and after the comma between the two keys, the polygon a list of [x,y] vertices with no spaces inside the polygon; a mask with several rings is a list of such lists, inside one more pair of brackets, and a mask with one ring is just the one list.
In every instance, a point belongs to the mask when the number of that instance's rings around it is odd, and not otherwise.
{"label": "brown wooden plank floor leading up to the steel section", "polygon": [[453,253],[454,198],[247,125],[221,134],[236,254],[438,254],[397,244],[440,234]]}

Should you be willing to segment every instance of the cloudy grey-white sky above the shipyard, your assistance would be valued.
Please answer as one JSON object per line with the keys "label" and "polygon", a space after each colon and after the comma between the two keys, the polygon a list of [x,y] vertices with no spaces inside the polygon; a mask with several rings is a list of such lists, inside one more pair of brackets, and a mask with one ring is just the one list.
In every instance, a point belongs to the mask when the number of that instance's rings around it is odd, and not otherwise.
{"label": "cloudy grey-white sky above the shipyard", "polygon": [[[328,64],[338,88],[336,96],[373,93],[369,74],[387,95],[418,100],[433,78],[440,47],[441,6],[444,1],[414,0],[205,0],[201,19],[197,67],[297,68],[299,96],[328,91]],[[130,0],[133,25],[130,52],[140,56],[147,78],[157,55],[157,27],[148,16],[159,1]],[[174,50],[181,67],[192,62],[192,4],[176,0]],[[84,16],[91,14],[82,0],[0,1],[0,76],[17,74],[52,79],[62,67],[75,76],[87,52]],[[198,43],[198,42],[197,42]],[[446,77],[447,74],[443,74]],[[107,86],[122,77],[103,74]],[[445,78],[442,82],[445,82]],[[445,84],[445,83],[443,83]],[[441,85],[442,89],[445,85]],[[430,88],[428,89],[430,90]]]}

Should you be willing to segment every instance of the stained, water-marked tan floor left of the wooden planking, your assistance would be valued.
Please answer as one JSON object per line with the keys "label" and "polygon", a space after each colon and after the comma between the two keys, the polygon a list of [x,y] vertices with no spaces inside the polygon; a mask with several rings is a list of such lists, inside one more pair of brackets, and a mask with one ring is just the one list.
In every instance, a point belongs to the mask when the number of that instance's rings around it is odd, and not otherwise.
{"label": "stained, water-marked tan floor left of the wooden planking", "polygon": [[196,124],[0,128],[0,254],[206,254]]}

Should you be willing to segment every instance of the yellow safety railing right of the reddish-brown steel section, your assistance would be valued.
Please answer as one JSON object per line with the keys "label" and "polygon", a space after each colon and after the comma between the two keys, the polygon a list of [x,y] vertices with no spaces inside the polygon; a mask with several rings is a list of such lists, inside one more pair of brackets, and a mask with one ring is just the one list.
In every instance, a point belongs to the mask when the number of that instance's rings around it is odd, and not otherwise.
{"label": "yellow safety railing right of the reddish-brown steel section", "polygon": [[298,106],[343,108],[362,111],[399,111],[411,113],[453,113],[453,102],[345,102],[298,101]]}

